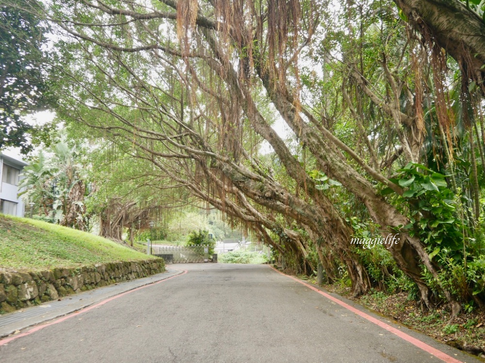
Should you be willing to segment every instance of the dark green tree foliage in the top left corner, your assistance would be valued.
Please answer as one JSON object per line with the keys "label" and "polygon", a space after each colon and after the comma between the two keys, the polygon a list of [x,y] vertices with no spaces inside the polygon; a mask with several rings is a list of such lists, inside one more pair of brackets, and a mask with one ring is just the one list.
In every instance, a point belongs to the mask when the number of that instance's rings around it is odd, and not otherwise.
{"label": "dark green tree foliage in the top left corner", "polygon": [[22,116],[53,105],[46,60],[46,23],[36,0],[0,5],[0,149],[32,149]]}

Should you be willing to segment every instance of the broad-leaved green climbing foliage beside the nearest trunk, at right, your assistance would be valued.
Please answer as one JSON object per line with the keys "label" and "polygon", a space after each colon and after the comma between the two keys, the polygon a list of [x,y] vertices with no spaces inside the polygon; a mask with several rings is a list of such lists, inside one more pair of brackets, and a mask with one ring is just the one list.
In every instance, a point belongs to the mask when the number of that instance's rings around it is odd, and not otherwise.
{"label": "broad-leaved green climbing foliage beside the nearest trunk, at right", "polygon": [[[463,217],[465,197],[461,196],[460,188],[454,193],[448,187],[448,175],[421,164],[408,163],[398,171],[399,176],[392,181],[405,190],[396,198],[396,205],[407,206],[410,219],[401,228],[420,238],[438,267],[438,280],[423,267],[426,284],[435,293],[439,293],[440,287],[446,288],[461,302],[483,295],[484,267],[477,263],[484,255],[483,242],[477,242],[482,232],[466,224]],[[384,189],[383,194],[388,193],[393,192]]]}

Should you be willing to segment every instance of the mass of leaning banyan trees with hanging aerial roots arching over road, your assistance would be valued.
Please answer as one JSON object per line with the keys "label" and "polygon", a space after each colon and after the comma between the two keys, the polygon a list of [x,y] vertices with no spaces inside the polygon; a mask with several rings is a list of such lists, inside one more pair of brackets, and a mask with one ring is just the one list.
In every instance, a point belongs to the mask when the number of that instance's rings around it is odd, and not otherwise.
{"label": "mass of leaning banyan trees with hanging aerial roots arching over road", "polygon": [[398,234],[381,246],[392,274],[457,314],[485,298],[471,257],[485,251],[477,12],[457,0],[53,0],[42,16],[62,34],[56,94],[73,134],[116,145],[153,190],[183,188],[300,271],[318,261],[335,279],[344,266],[356,295],[389,272],[352,239]]}

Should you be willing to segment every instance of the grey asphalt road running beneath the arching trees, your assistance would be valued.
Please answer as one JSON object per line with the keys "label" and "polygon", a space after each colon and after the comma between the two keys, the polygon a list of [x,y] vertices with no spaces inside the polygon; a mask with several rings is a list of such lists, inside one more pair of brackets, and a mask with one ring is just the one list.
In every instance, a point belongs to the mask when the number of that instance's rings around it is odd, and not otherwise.
{"label": "grey asphalt road running beneath the arching trees", "polygon": [[10,341],[0,362],[480,362],[266,265],[173,267],[188,272]]}

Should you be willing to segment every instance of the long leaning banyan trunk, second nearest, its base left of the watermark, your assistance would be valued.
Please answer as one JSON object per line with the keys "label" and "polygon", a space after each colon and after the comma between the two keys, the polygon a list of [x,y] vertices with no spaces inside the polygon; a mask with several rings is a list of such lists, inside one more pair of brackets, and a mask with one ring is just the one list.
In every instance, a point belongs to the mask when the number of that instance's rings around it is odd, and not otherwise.
{"label": "long leaning banyan trunk, second nearest, its base left of the watermark", "polygon": [[[352,228],[341,218],[339,212],[333,205],[333,203],[319,190],[316,189],[315,183],[307,175],[306,170],[300,165],[298,160],[294,158],[291,151],[285,145],[283,140],[275,133],[271,126],[267,123],[264,117],[259,113],[258,107],[253,101],[251,92],[241,84],[238,79],[238,75],[234,70],[234,66],[228,59],[222,56],[222,51],[216,43],[215,39],[211,36],[209,30],[202,30],[202,33],[209,42],[214,54],[224,65],[224,72],[219,72],[220,69],[215,68],[215,71],[222,74],[225,78],[227,85],[230,88],[233,96],[239,101],[242,110],[246,117],[251,121],[254,130],[262,137],[264,137],[273,147],[276,154],[279,157],[280,162],[285,166],[289,176],[296,181],[300,188],[306,191],[307,195],[315,203],[314,206],[309,207],[307,203],[301,203],[301,200],[295,202],[299,205],[299,212],[297,215],[293,215],[296,221],[310,227],[314,234],[323,237],[323,242],[329,249],[336,251],[337,256],[346,265],[349,272],[349,277],[352,281],[354,295],[358,296],[367,292],[371,288],[371,281],[369,274],[365,267],[361,264],[359,258],[354,252],[352,252],[350,241],[353,234]],[[226,176],[230,177],[230,172],[226,173]],[[238,187],[242,187],[242,183],[237,184]],[[271,191],[271,185],[268,185],[266,189],[269,192],[268,196],[271,198],[279,198],[280,202],[285,203],[285,200],[290,200],[293,197],[290,195],[280,193],[278,190]],[[249,189],[242,189],[246,195],[251,195]],[[259,204],[264,205],[265,199],[259,198],[257,195],[252,195]],[[296,200],[296,199],[295,199]],[[294,209],[295,205],[292,206]],[[284,211],[281,211],[285,213]],[[304,215],[308,217],[304,219]],[[331,241],[331,243],[330,243]],[[323,266],[328,266],[325,261],[322,261]],[[329,267],[329,266],[328,266]],[[331,272],[328,272],[329,274]]]}

